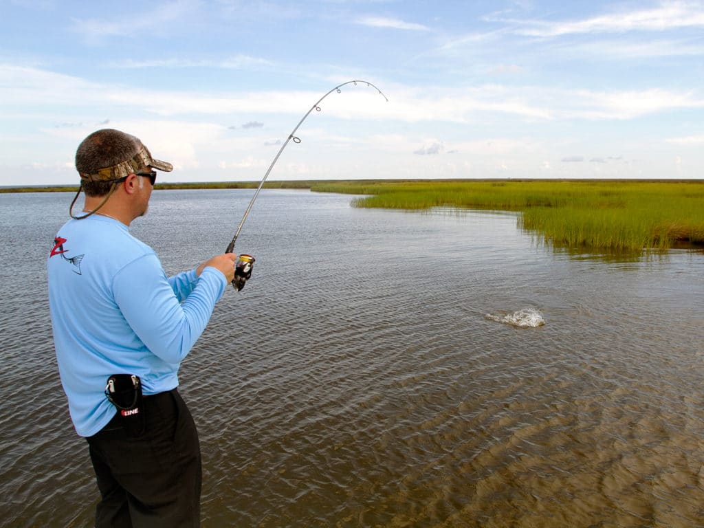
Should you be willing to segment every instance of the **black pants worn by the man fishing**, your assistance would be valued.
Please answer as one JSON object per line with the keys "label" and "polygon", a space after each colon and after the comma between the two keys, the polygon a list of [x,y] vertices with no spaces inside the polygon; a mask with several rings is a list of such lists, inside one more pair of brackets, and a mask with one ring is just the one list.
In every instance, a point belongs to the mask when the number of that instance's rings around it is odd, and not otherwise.
{"label": "black pants worn by the man fishing", "polygon": [[87,438],[101,501],[96,527],[198,527],[201,451],[176,389],[144,397],[146,428],[130,437],[115,415]]}

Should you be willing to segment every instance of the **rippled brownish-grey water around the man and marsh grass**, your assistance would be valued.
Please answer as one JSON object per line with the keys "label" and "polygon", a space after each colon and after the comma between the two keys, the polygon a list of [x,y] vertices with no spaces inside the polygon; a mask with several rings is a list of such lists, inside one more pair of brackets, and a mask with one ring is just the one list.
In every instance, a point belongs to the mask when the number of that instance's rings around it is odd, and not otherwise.
{"label": "rippled brownish-grey water around the man and marsh grass", "polygon": [[[251,192],[155,192],[132,232],[186,269]],[[71,198],[0,195],[8,527],[90,526],[98,494],[46,302]],[[513,214],[349,200],[263,191],[237,241],[253,278],[180,372],[203,527],[704,527],[701,252],[570,255]]]}

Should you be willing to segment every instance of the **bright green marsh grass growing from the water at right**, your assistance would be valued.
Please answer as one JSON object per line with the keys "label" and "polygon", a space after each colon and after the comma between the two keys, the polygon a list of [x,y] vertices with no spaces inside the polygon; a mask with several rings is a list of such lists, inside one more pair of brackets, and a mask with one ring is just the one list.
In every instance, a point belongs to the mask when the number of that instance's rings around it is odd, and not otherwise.
{"label": "bright green marsh grass growing from the water at right", "polygon": [[454,206],[520,211],[520,227],[555,246],[615,251],[704,245],[704,182],[325,182],[315,191],[369,194],[356,207]]}

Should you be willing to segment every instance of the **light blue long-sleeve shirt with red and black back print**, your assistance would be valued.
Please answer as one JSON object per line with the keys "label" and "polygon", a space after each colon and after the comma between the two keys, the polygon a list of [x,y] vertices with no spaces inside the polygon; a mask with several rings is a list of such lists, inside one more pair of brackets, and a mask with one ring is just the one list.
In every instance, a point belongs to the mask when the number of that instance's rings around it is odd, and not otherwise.
{"label": "light blue long-sleeve shirt with red and black back print", "polygon": [[144,394],[178,386],[180,363],[227,285],[210,267],[167,278],[153,249],[99,215],[61,227],[47,270],[58,370],[80,436],[115,415],[104,394],[111,375],[138,375]]}

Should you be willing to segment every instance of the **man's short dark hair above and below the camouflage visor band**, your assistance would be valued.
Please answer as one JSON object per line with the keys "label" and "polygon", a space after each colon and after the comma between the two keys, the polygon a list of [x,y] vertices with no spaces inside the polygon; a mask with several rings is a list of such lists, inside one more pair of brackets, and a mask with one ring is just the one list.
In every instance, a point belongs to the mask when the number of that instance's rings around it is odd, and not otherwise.
{"label": "man's short dark hair above and below the camouflage visor band", "polygon": [[[134,156],[142,142],[130,134],[111,128],[96,130],[76,150],[76,169],[81,175],[94,175],[99,169],[113,167]],[[82,178],[86,196],[104,196],[113,182]]]}

